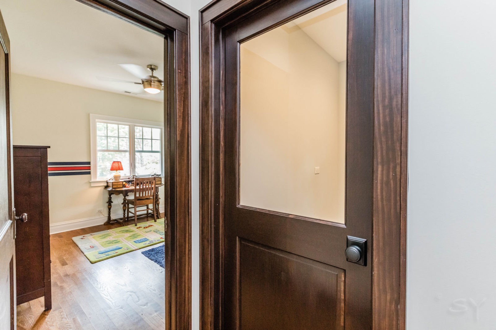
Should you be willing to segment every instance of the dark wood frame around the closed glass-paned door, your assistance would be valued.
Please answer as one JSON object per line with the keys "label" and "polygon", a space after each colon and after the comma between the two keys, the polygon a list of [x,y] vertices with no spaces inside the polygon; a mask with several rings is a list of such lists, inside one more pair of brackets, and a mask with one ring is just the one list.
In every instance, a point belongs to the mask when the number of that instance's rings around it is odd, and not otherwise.
{"label": "dark wood frame around the closed glass-paned door", "polygon": [[[372,329],[404,330],[408,178],[408,0],[364,1],[375,3],[372,77]],[[223,328],[224,109],[221,30],[261,6],[276,2],[277,0],[214,0],[200,9],[202,330]]]}

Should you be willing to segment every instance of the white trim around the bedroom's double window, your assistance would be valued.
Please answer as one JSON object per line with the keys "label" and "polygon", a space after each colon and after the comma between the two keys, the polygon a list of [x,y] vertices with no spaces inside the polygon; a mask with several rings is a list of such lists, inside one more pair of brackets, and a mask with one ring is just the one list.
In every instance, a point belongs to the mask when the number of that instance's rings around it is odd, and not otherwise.
{"label": "white trim around the bedroom's double window", "polygon": [[[101,114],[90,113],[90,152],[91,152],[91,180],[90,184],[92,187],[94,186],[104,186],[107,184],[107,180],[101,180],[97,178],[97,146],[96,146],[96,123],[107,122],[111,124],[124,124],[124,125],[138,125],[144,127],[152,127],[152,128],[161,128],[162,129],[162,140],[160,146],[160,154],[164,155],[164,124],[158,121],[148,121],[148,120],[140,120],[140,119],[132,119],[132,118],[122,118],[122,117],[113,117],[106,116]],[[132,127],[134,129],[134,126]],[[134,138],[131,139],[131,127],[129,128],[129,153],[131,150],[134,150]],[[134,137],[134,132],[132,133]],[[132,149],[131,149],[132,148]],[[129,154],[129,162],[131,163],[131,169],[133,168],[134,160],[131,159]],[[161,171],[164,172],[164,160],[162,160]]]}

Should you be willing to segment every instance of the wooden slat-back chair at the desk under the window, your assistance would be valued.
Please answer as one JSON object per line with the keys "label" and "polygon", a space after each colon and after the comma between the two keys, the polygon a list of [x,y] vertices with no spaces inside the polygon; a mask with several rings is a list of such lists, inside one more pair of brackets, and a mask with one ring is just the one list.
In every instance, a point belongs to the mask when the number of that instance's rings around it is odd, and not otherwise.
{"label": "wooden slat-back chair at the desk under the window", "polygon": [[[151,208],[149,205],[151,204]],[[132,205],[132,211],[129,211]],[[146,209],[138,210],[138,207],[146,207]],[[127,221],[129,221],[129,213],[134,215],[134,225],[138,225],[138,211],[146,211],[146,216],[150,211],[153,212],[153,219],[157,222],[157,214],[155,212],[155,177],[137,177],[134,179],[134,199],[127,200]]]}

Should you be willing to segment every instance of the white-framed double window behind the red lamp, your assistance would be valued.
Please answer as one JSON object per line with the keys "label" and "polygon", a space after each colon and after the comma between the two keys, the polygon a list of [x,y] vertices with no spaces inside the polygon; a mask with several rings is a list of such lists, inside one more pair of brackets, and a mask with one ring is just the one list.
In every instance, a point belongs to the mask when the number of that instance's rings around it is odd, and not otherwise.
{"label": "white-framed double window behind the red lamp", "polygon": [[122,177],[162,174],[161,123],[91,114],[90,126],[92,185],[112,177],[114,161],[122,162]]}

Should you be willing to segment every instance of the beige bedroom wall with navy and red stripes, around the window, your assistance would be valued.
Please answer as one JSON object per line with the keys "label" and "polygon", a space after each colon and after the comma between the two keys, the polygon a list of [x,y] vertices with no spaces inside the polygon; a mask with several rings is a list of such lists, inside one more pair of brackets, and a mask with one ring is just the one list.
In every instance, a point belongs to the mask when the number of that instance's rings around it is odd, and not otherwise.
{"label": "beige bedroom wall with navy and red stripes, around the window", "polygon": [[[48,145],[49,162],[90,161],[90,113],[163,122],[160,102],[19,74],[11,86],[13,144]],[[90,175],[49,177],[51,225],[101,218],[98,209],[107,214],[107,193],[89,181]],[[114,196],[114,217],[122,215],[121,203]]]}

